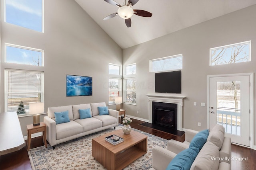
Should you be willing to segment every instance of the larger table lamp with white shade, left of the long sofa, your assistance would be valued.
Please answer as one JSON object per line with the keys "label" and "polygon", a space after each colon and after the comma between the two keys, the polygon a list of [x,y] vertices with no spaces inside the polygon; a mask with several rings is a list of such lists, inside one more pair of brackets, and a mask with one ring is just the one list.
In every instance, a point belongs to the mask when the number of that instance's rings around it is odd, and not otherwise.
{"label": "larger table lamp with white shade, left of the long sofa", "polygon": [[33,125],[40,125],[40,115],[44,113],[44,102],[31,102],[29,103],[29,114],[33,115]]}

